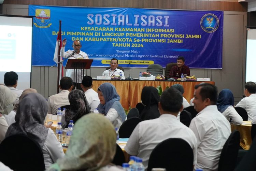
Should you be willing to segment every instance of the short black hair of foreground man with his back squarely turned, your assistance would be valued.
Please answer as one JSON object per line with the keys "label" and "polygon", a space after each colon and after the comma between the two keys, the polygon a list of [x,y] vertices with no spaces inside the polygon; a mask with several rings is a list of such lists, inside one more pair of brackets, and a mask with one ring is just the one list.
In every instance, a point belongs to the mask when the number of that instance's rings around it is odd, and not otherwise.
{"label": "short black hair of foreground man with his back squarely turned", "polygon": [[183,97],[176,88],[168,88],[162,92],[160,103],[163,111],[179,112],[182,107]]}

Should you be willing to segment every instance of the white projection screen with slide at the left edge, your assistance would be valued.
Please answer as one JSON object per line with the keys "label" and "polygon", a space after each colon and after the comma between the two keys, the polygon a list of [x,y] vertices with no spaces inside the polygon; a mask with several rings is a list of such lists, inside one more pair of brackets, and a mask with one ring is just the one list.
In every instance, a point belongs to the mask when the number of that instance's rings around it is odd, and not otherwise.
{"label": "white projection screen with slide at the left edge", "polygon": [[32,18],[0,15],[0,83],[5,72],[18,74],[17,89],[30,87]]}

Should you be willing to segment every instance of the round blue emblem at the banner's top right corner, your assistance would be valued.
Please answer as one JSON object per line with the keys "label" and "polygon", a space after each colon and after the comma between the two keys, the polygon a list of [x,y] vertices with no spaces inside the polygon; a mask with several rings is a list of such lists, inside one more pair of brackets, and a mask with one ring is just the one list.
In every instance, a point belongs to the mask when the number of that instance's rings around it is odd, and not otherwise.
{"label": "round blue emblem at the banner's top right corner", "polygon": [[205,32],[212,33],[219,27],[219,19],[214,14],[205,14],[201,18],[201,27]]}

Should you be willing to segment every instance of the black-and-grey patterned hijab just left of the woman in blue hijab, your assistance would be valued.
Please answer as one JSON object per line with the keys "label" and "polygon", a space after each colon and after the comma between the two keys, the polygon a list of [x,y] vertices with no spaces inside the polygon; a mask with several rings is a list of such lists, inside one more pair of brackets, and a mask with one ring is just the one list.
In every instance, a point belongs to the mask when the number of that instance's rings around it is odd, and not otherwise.
{"label": "black-and-grey patterned hijab just left of the woman in blue hijab", "polygon": [[69,93],[69,103],[70,103],[70,110],[66,109],[65,111],[65,121],[66,125],[69,124],[70,120],[76,120],[81,118],[83,115],[90,112],[91,107],[86,100],[84,92],[81,90],[72,90]]}

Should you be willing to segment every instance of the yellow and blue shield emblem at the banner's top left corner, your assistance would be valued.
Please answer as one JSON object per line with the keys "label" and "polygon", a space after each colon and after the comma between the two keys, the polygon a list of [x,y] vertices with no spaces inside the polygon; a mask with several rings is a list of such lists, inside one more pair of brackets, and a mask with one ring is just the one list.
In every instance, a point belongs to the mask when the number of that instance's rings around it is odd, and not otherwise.
{"label": "yellow and blue shield emblem at the banner's top left corner", "polygon": [[35,21],[37,23],[33,23],[33,24],[35,25],[35,27],[39,27],[39,28],[50,27],[52,25],[52,23],[49,23],[50,16],[51,16],[51,11],[49,9],[36,9],[35,10]]}

